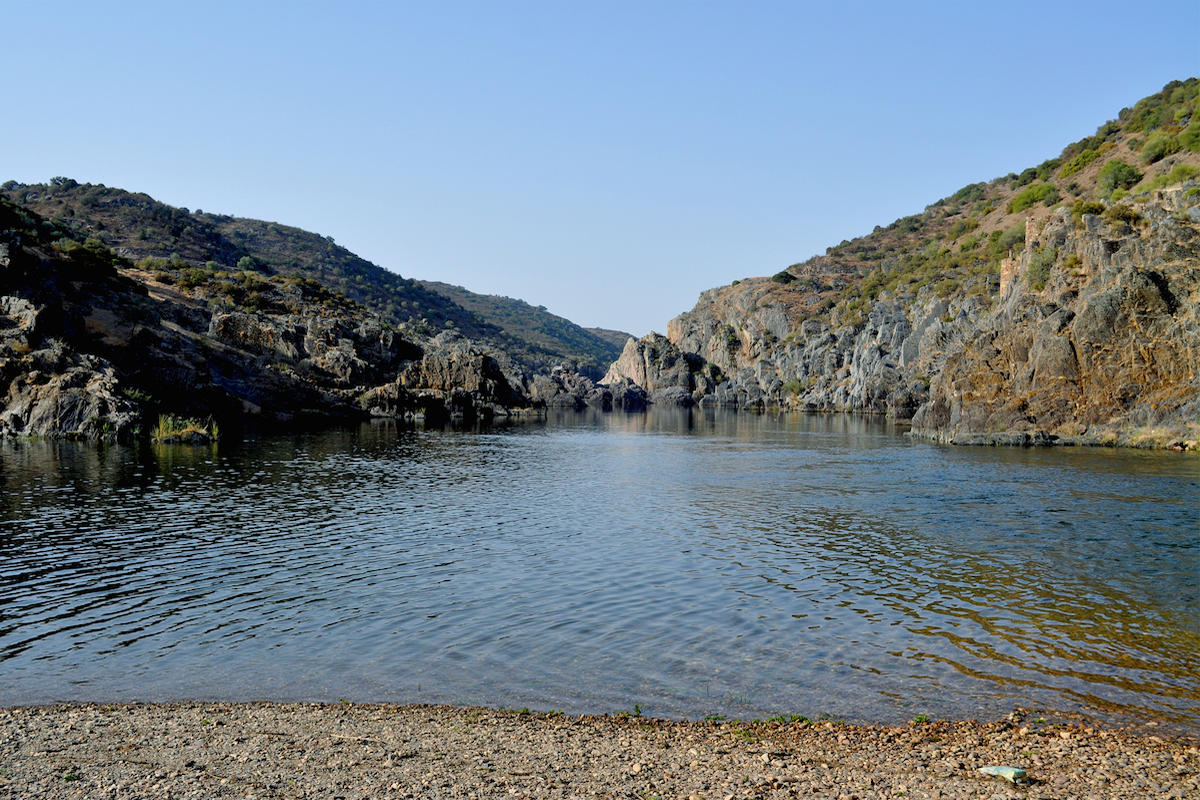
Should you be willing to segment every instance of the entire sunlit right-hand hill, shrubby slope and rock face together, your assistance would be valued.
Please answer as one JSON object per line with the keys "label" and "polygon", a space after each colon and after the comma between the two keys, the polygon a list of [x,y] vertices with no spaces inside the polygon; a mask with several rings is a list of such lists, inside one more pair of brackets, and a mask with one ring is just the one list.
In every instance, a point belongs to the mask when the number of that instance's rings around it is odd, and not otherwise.
{"label": "entire sunlit right-hand hill, shrubby slope and rock face together", "polygon": [[1198,98],[1172,82],[1056,158],[704,291],[605,381],[890,414],[941,441],[1194,443]]}

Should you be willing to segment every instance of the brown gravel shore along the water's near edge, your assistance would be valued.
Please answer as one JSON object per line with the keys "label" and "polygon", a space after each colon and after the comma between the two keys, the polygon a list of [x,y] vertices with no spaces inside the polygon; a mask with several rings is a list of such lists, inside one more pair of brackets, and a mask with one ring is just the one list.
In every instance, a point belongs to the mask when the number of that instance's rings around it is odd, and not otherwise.
{"label": "brown gravel shore along the water's near edge", "polygon": [[[1200,798],[1194,736],[1008,718],[900,728],[428,705],[0,709],[0,798]],[[1010,786],[989,764],[1026,769]]]}

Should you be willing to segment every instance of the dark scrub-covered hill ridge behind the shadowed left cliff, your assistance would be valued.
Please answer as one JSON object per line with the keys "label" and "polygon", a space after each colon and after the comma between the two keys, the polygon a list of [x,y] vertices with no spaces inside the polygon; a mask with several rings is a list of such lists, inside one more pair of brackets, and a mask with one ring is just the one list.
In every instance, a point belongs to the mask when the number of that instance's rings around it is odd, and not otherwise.
{"label": "dark scrub-covered hill ridge behind the shadowed left cliff", "polygon": [[624,345],[624,338],[613,345],[542,307],[403,278],[332,239],[289,225],[176,209],[148,194],[68,178],[8,181],[0,197],[52,221],[71,239],[98,241],[161,282],[186,284],[242,271],[317,281],[382,323],[427,337],[456,331],[502,351],[530,377],[564,361],[599,377]]}

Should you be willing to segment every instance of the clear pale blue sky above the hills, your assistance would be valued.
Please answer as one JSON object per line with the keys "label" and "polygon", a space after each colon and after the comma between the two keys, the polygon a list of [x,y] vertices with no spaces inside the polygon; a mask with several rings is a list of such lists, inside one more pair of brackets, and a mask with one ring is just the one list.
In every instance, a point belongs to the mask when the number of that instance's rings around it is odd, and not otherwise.
{"label": "clear pale blue sky above the hills", "polygon": [[665,331],[1200,73],[1200,2],[5,2],[0,181]]}

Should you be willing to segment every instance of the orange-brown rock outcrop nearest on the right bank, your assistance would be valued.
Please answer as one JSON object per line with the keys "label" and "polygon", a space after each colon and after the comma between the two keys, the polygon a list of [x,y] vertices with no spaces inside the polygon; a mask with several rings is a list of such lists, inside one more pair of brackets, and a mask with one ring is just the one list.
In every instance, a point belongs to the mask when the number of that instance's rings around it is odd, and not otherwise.
{"label": "orange-brown rock outcrop nearest on the right bank", "polygon": [[[1060,210],[1030,227],[1000,308],[946,360],[913,432],[955,444],[1200,438],[1200,231],[1182,199],[1139,206],[1135,225]],[[1028,279],[1038,259],[1040,290]]]}

